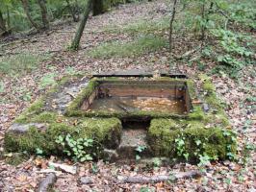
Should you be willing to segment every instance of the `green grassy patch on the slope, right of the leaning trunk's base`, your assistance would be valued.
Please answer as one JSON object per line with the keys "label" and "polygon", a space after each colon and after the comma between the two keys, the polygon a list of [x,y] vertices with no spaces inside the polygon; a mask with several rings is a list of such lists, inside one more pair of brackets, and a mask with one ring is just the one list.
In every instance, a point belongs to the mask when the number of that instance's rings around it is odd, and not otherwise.
{"label": "green grassy patch on the slope, right of the leaning trunk's base", "polygon": [[92,48],[88,55],[92,58],[109,59],[141,56],[167,47],[167,39],[161,36],[140,36],[132,41],[105,42]]}

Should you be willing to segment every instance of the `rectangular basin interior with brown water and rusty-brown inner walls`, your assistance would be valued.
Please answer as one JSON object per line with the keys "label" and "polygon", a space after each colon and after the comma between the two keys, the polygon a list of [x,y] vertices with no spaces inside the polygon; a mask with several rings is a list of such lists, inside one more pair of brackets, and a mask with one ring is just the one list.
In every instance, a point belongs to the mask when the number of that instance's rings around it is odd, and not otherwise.
{"label": "rectangular basin interior with brown water and rusty-brown inner walls", "polygon": [[81,108],[85,111],[187,114],[191,101],[186,82],[100,81]]}

